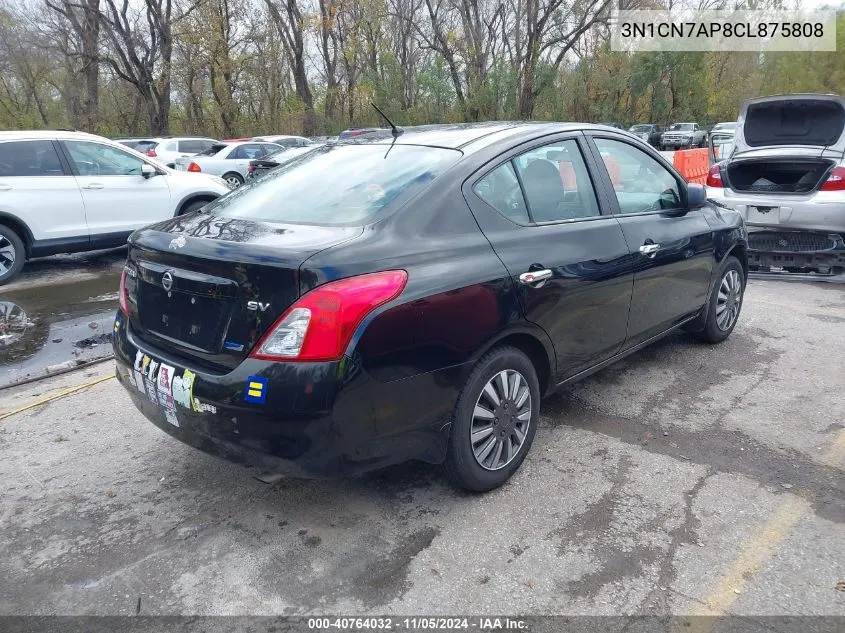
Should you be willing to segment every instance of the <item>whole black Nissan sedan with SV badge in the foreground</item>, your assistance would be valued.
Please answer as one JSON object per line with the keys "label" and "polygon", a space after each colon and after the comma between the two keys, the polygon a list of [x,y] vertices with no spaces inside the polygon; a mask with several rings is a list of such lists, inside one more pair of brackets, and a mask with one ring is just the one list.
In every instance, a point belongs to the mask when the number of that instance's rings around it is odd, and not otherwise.
{"label": "whole black Nissan sedan with SV badge in the foreground", "polygon": [[544,395],[678,328],[726,339],[746,237],[627,132],[324,145],[132,235],[117,373],[159,428],[230,460],[321,477],[419,459],[490,490]]}

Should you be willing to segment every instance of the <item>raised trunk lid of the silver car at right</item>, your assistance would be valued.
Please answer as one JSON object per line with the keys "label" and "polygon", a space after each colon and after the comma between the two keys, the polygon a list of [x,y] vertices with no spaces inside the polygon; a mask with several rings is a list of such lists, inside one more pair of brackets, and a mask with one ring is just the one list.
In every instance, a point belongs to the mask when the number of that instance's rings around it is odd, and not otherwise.
{"label": "raised trunk lid of the silver car at right", "polygon": [[836,95],[785,95],[745,102],[734,155],[761,148],[811,148],[845,154],[845,99]]}

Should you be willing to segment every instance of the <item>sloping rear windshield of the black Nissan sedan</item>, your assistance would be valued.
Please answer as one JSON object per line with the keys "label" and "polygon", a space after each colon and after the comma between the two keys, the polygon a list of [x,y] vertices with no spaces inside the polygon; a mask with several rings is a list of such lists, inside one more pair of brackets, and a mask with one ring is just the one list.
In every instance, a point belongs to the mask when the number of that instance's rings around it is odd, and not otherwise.
{"label": "sloping rear windshield of the black Nissan sedan", "polygon": [[267,222],[363,223],[400,196],[422,191],[460,156],[417,145],[315,147],[205,210]]}

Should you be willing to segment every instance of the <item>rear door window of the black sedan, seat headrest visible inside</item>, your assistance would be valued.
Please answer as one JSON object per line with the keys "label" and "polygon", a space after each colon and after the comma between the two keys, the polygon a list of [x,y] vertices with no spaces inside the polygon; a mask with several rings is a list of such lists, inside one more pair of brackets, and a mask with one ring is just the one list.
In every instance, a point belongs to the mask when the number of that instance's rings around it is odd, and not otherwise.
{"label": "rear door window of the black sedan, seat headrest visible inside", "polygon": [[600,215],[584,158],[574,140],[532,149],[513,159],[534,222]]}

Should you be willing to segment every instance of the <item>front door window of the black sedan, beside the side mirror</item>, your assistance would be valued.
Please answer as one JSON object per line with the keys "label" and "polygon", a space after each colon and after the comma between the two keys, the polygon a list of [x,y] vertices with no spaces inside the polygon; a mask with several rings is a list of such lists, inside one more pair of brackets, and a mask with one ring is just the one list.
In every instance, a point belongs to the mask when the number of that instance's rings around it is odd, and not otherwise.
{"label": "front door window of the black sedan, beside the side mirror", "polygon": [[597,138],[595,143],[622,213],[681,207],[681,187],[677,178],[657,160],[621,141]]}

